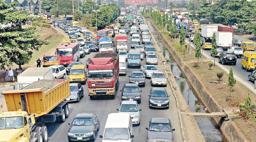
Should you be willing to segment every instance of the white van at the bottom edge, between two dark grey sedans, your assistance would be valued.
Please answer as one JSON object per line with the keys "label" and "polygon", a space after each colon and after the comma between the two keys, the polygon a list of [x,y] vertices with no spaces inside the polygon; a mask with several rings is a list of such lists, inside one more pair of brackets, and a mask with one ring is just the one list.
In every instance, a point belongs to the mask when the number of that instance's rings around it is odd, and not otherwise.
{"label": "white van at the bottom edge, between two dark grey sedans", "polygon": [[130,114],[127,113],[112,113],[108,115],[102,142],[109,141],[133,141],[133,123],[131,122]]}

